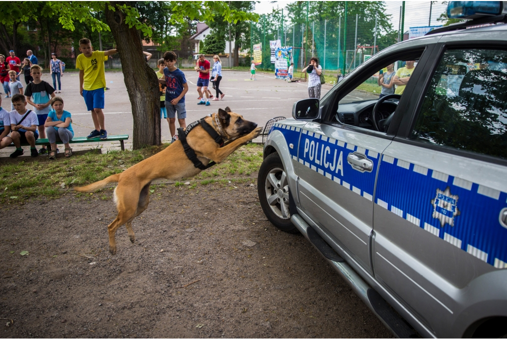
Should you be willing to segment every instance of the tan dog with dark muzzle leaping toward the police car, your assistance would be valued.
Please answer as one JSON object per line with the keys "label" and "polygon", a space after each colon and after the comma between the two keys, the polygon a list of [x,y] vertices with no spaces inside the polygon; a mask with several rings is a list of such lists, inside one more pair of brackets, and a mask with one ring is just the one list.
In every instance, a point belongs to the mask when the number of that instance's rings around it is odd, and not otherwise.
{"label": "tan dog with dark muzzle leaping toward the police car", "polygon": [[[229,107],[219,109],[205,121],[217,131],[228,144],[220,147],[202,126],[195,127],[187,135],[187,142],[194,149],[197,158],[207,165],[210,161],[221,163],[241,145],[256,138],[262,128],[256,123],[246,121],[239,114],[231,112]],[[217,123],[220,122],[221,126]],[[152,180],[166,178],[178,180],[188,178],[201,172],[194,167],[184,152],[182,142],[176,140],[156,155],[141,161],[126,171],[108,176],[88,186],[74,187],[78,192],[92,192],[101,189],[110,182],[118,182],[114,192],[114,199],[118,215],[107,226],[109,235],[109,251],[116,253],[116,230],[123,224],[127,227],[131,242],[135,235],[132,231],[132,219],[142,213],[150,202],[149,190]]]}

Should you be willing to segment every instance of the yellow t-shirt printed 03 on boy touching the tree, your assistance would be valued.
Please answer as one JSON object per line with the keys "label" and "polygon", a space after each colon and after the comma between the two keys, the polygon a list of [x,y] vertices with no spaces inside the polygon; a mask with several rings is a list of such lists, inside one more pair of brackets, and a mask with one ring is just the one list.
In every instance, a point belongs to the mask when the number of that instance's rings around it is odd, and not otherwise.
{"label": "yellow t-shirt printed 03 on boy touching the tree", "polygon": [[76,59],[76,68],[85,72],[83,78],[83,89],[93,91],[99,88],[105,88],[104,51],[93,51],[91,57],[87,58],[84,54],[78,55]]}

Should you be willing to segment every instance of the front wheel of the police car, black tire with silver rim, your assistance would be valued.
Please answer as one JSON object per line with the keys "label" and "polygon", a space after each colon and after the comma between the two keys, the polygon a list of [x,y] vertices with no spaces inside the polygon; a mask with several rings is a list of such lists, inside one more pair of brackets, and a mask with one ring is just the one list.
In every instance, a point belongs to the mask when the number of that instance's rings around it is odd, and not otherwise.
{"label": "front wheel of the police car, black tire with silver rim", "polygon": [[257,190],[262,210],[268,220],[284,232],[298,233],[291,221],[288,180],[278,153],[270,154],[262,162],[257,178]]}

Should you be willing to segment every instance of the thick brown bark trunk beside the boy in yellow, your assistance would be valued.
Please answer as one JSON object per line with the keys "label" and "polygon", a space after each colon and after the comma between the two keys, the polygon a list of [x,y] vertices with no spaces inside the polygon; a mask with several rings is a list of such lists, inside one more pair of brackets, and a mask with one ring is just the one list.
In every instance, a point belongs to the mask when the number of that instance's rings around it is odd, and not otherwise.
{"label": "thick brown bark trunk beside the boy in yellow", "polygon": [[[110,6],[125,2],[111,2]],[[155,71],[144,61],[142,43],[135,27],[129,28],[125,15],[105,6],[105,20],[111,28],[122,61],[122,71],[134,118],[133,149],[161,144],[160,96]],[[118,54],[117,54],[118,55]]]}

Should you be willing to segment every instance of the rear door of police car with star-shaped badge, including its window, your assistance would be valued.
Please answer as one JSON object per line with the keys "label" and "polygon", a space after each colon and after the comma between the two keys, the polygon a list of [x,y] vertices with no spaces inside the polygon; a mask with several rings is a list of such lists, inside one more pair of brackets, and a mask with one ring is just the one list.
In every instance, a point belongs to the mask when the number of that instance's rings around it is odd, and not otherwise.
{"label": "rear door of police car with star-shaped badge, including its window", "polygon": [[376,279],[449,336],[482,277],[507,268],[507,49],[441,46],[379,161],[372,257]]}

